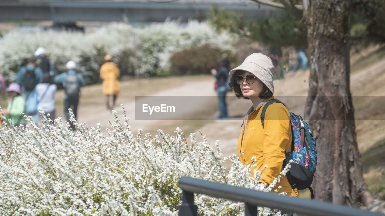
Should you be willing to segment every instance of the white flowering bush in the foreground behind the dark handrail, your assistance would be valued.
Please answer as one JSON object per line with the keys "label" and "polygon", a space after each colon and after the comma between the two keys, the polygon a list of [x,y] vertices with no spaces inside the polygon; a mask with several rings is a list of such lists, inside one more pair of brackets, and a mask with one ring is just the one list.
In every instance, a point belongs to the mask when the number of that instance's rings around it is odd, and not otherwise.
{"label": "white flowering bush in the foreground behind the dark handrail", "polygon": [[[100,124],[76,123],[72,113],[76,132],[60,117],[55,125],[44,118],[42,128],[30,118],[27,127],[0,128],[0,215],[176,216],[182,176],[256,188],[260,172],[251,178],[251,165],[235,156],[226,173],[218,141],[214,148],[204,135],[187,141],[179,128],[175,136],[141,129],[135,136],[126,113],[124,121],[113,114],[108,135]],[[244,215],[243,203],[196,194],[195,204],[199,215]]]}

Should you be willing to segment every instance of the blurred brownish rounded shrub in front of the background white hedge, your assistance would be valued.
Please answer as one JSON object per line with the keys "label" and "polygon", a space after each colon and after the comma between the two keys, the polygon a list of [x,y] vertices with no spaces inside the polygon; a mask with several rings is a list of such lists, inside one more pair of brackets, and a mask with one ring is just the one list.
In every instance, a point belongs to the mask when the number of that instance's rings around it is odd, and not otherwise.
{"label": "blurred brownish rounded shrub in front of the background white hedge", "polygon": [[174,53],[170,58],[172,75],[193,75],[210,73],[211,68],[218,68],[222,56],[221,50],[206,44],[191,47]]}

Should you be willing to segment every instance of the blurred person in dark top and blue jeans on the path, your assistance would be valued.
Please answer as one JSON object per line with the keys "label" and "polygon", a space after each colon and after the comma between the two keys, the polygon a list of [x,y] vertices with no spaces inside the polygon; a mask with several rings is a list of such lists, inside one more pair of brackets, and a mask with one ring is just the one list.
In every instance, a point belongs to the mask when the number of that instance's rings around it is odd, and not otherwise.
{"label": "blurred person in dark top and blue jeans on the path", "polygon": [[216,78],[216,91],[218,94],[218,107],[219,107],[219,116],[218,118],[229,118],[227,112],[227,104],[226,104],[226,93],[228,88],[228,79],[230,69],[230,62],[228,58],[222,58],[221,60],[221,68],[217,72],[214,68],[211,69],[211,74],[213,74]]}

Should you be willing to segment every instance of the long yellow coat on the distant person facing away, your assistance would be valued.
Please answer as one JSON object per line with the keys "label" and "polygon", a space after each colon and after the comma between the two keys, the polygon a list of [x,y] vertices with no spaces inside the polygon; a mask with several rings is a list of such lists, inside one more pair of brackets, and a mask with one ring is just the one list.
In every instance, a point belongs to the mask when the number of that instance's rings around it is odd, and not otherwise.
{"label": "long yellow coat on the distant person facing away", "polygon": [[106,62],[100,67],[103,95],[119,94],[119,68],[113,62]]}

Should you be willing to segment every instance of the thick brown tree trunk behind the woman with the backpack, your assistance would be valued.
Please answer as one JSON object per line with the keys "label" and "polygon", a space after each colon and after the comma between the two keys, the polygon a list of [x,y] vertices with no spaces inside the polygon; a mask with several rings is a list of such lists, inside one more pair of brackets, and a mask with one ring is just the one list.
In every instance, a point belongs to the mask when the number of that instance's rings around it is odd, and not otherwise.
{"label": "thick brown tree trunk behind the woman with the backpack", "polygon": [[315,198],[349,206],[368,205],[350,94],[351,1],[313,0],[306,14],[311,53],[305,116],[317,143]]}

